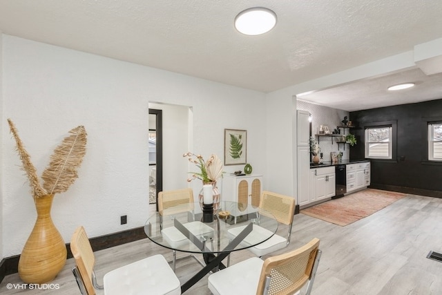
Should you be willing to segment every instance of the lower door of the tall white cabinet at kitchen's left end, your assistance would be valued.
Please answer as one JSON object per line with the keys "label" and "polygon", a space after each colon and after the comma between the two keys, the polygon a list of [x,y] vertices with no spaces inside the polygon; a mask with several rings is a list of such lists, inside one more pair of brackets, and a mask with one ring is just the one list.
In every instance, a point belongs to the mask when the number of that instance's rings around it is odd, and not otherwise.
{"label": "lower door of the tall white cabinet at kitchen's left end", "polygon": [[298,146],[298,192],[297,202],[300,206],[310,202],[310,146]]}

